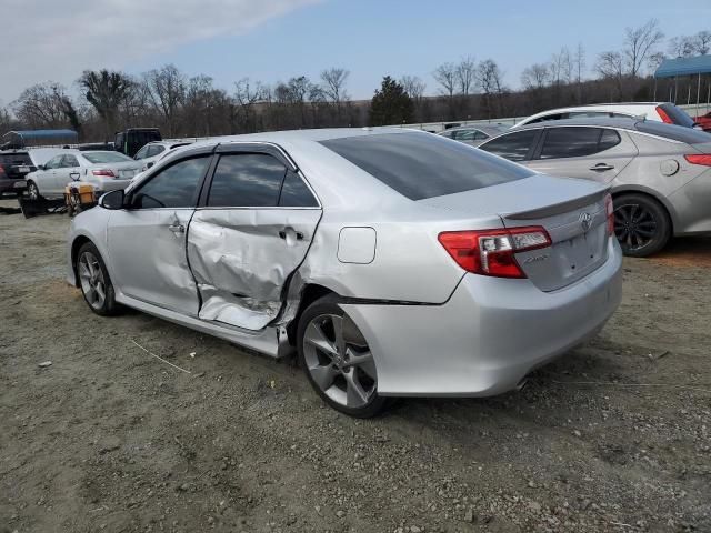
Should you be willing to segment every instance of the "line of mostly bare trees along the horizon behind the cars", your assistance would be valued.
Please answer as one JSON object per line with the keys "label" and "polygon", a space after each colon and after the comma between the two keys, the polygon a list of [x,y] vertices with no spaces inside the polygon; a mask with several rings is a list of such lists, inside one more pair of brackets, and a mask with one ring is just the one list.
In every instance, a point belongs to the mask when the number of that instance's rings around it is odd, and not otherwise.
{"label": "line of mostly bare trees along the horizon behind the cars", "polygon": [[[652,100],[650,73],[665,57],[709,53],[711,32],[669,39],[665,53],[663,44],[664,34],[652,19],[627,28],[621,47],[599,53],[590,69],[582,43],[561,48],[523,69],[518,90],[505,84],[495,60],[467,56],[433,69],[434,95],[425,94],[427,83],[419,77],[385,76],[373,98],[360,101],[350,98],[350,72],[342,67],[324,69],[317,80],[297,76],[269,84],[242,78],[230,90],[216,87],[206,74],[189,77],[174,64],[138,77],[87,70],[76,81],[78,98],[51,81],[27,88],[9,108],[0,108],[0,132],[71,128],[82,141],[98,141],[112,140],[128,127],[157,125],[167,138],[209,137],[523,117],[552,107]],[[708,84],[707,79],[704,93]],[[658,99],[668,98],[665,91],[667,86]]]}

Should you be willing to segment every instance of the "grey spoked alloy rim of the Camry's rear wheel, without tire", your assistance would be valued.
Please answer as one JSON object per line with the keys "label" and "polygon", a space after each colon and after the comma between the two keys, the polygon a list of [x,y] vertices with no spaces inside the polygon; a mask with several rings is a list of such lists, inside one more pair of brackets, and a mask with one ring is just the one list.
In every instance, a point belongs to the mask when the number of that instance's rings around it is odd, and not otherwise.
{"label": "grey spoked alloy rim of the Camry's rear wheel, without tire", "polygon": [[378,376],[372,353],[347,315],[312,319],[303,334],[303,358],[313,382],[333,402],[357,409],[375,394]]}

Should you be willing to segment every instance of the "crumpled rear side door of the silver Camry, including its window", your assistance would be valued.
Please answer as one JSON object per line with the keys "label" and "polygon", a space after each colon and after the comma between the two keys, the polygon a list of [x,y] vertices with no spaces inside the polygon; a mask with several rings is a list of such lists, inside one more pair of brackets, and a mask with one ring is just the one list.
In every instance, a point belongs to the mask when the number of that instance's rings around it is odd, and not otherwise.
{"label": "crumpled rear side door of the silver Camry, including its window", "polygon": [[213,169],[188,232],[199,318],[261,330],[281,310],[321,208],[276,145],[218,147]]}

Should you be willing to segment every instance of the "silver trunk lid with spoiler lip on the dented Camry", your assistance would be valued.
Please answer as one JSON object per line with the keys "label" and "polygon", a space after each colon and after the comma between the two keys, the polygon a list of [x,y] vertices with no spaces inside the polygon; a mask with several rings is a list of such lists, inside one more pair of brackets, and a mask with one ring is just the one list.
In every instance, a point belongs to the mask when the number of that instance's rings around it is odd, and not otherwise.
{"label": "silver trunk lid with spoiler lip on the dented Camry", "polygon": [[505,228],[544,228],[551,245],[517,253],[517,261],[535,286],[550,292],[581,280],[607,261],[607,192],[595,182],[535,174],[421,202],[477,215],[497,214]]}

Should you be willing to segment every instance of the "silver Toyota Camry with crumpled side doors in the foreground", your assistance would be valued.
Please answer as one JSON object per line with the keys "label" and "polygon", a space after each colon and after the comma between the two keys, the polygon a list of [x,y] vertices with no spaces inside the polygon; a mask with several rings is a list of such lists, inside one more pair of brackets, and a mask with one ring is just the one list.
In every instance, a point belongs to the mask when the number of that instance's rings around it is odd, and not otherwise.
{"label": "silver Toyota Camry with crumpled side doors in the foreground", "polygon": [[409,130],[178,149],[71,222],[90,309],[280,358],[331,406],[483,396],[599,331],[621,298],[607,188]]}

